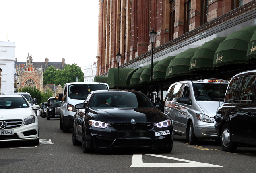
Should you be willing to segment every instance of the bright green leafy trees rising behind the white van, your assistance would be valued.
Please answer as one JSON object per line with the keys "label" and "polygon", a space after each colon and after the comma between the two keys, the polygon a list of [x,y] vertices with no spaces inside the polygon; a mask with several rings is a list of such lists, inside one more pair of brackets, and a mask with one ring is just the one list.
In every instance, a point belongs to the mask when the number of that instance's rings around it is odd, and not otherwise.
{"label": "bright green leafy trees rising behind the white van", "polygon": [[65,83],[76,82],[76,77],[78,77],[78,82],[84,81],[83,72],[76,64],[68,64],[63,70],[56,70],[54,67],[50,66],[43,73],[43,83],[55,84],[56,86],[60,84],[64,87]]}

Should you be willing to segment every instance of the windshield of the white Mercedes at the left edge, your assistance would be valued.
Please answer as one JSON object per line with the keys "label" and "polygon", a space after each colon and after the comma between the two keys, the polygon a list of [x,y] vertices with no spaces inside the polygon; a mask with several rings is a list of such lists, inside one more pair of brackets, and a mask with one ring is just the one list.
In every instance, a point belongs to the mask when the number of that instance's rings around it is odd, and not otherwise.
{"label": "windshield of the white Mercedes at the left edge", "polygon": [[23,97],[0,98],[0,109],[27,108],[27,102]]}

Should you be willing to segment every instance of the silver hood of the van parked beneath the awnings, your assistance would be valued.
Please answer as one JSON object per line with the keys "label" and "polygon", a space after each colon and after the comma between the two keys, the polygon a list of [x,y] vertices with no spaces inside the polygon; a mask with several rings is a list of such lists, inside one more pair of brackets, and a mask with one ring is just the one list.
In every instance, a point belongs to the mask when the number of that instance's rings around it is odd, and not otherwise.
{"label": "silver hood of the van parked beneath the awnings", "polygon": [[220,107],[220,105],[223,103],[218,101],[196,101],[196,102],[201,107],[203,111],[202,113],[212,118],[216,115],[216,111],[218,107]]}

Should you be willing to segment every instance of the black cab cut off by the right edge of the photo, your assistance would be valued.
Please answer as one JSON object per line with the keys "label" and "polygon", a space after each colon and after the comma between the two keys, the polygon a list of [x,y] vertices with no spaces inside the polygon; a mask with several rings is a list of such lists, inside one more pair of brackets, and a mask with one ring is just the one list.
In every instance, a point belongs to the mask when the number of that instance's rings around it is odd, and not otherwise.
{"label": "black cab cut off by the right edge of the photo", "polygon": [[215,131],[224,151],[237,144],[256,145],[256,70],[235,75],[227,88],[224,103],[217,109]]}

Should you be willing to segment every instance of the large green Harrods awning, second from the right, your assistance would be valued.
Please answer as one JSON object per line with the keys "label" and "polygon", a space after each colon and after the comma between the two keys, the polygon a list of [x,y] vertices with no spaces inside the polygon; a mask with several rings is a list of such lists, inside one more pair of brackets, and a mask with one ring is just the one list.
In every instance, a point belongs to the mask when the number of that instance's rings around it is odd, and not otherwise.
{"label": "large green Harrods awning, second from the right", "polygon": [[256,26],[246,26],[227,36],[214,54],[213,68],[227,64],[248,63],[246,59],[248,42],[255,30]]}

